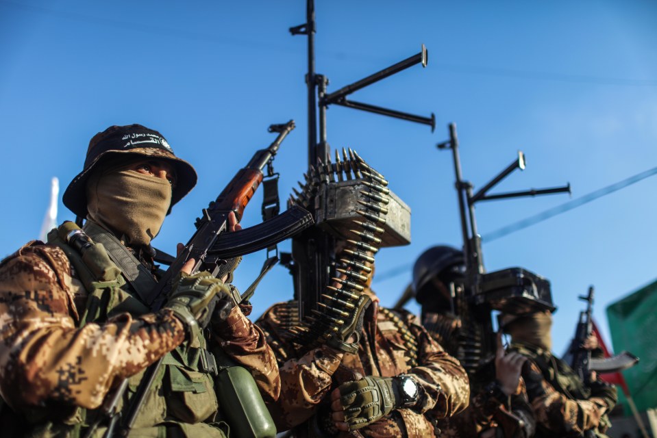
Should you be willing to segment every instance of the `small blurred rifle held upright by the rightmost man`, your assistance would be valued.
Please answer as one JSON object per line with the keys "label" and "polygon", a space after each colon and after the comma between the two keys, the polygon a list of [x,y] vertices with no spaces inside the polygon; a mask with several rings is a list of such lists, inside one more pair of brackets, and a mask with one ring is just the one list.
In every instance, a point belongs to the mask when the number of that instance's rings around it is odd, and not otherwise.
{"label": "small blurred rifle held upright by the rightmost man", "polygon": [[586,296],[580,295],[580,300],[586,301],[586,309],[580,311],[580,320],[575,327],[575,336],[571,341],[567,355],[564,358],[582,382],[588,382],[591,372],[613,373],[626,370],[639,362],[632,353],[623,351],[613,357],[604,359],[591,358],[591,350],[583,348],[584,341],[593,333],[593,286],[588,287]]}

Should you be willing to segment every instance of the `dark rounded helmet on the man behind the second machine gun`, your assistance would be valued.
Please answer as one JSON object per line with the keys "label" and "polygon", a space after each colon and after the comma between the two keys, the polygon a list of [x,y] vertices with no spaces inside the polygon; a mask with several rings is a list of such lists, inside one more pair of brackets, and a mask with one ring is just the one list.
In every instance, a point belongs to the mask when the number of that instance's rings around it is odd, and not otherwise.
{"label": "dark rounded helmet on the man behind the second machine gun", "polygon": [[413,266],[413,289],[417,302],[425,305],[447,300],[445,304],[449,303],[451,296],[443,296],[444,291],[436,282],[447,286],[455,279],[461,279],[464,266],[465,259],[461,250],[444,245],[425,250]]}

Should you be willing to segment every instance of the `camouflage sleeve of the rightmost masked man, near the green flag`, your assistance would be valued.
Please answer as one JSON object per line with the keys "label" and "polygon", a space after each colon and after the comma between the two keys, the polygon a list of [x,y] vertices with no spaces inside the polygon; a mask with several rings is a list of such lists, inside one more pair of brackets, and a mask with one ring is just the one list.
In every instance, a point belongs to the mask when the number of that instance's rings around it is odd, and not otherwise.
{"label": "camouflage sleeve of the rightmost masked man, near the green flag", "polygon": [[561,394],[543,378],[533,361],[523,367],[523,378],[536,423],[555,434],[581,436],[585,430],[597,428],[608,408],[602,398],[572,400]]}

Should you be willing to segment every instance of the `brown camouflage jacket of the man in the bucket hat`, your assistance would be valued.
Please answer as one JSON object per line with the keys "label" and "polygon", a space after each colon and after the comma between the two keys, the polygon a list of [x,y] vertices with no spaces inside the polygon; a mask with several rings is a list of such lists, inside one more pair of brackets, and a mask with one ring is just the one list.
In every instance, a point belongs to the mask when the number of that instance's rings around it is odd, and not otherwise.
{"label": "brown camouflage jacket of the man in the bucket hat", "polygon": [[[127,286],[119,292],[130,298]],[[145,368],[160,357],[166,355],[165,365],[179,362],[180,357],[189,359],[193,346],[187,345],[183,324],[168,309],[118,311],[125,300],[106,320],[82,325],[89,298],[58,246],[30,242],[1,261],[0,394],[22,422],[79,424],[84,415],[93,417],[110,389],[124,378],[129,378],[127,392],[132,394]],[[222,348],[251,371],[265,398],[277,398],[277,364],[262,332],[238,307],[225,322],[211,327],[208,349]],[[149,398],[150,418],[144,420],[147,424],[138,419],[136,428],[166,424],[182,429],[183,436],[203,430],[209,437],[224,436],[208,425],[218,406],[212,379],[199,372],[198,363],[197,358],[179,370],[164,367],[168,374],[160,379],[160,389],[169,396]],[[153,394],[160,394],[158,390],[153,389]],[[198,404],[199,394],[209,400],[201,402],[203,412],[189,407]],[[198,424],[196,431],[188,430],[192,424]]]}

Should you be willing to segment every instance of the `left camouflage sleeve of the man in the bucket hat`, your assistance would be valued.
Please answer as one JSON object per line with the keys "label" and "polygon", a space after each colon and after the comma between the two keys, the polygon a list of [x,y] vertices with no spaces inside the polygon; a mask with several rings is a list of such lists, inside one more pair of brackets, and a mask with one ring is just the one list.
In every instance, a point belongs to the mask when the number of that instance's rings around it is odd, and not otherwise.
{"label": "left camouflage sleeve of the man in the bucket hat", "polygon": [[71,266],[51,246],[26,246],[0,265],[0,393],[14,409],[66,402],[98,407],[120,378],[184,340],[171,311],[77,327]]}

